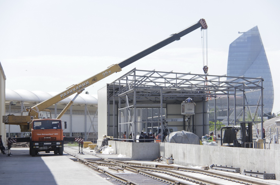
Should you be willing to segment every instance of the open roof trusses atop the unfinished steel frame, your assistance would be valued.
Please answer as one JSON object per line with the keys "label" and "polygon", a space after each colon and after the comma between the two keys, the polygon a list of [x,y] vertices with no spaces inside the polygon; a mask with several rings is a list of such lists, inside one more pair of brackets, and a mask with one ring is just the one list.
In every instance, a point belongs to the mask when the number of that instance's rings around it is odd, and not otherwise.
{"label": "open roof trusses atop the unfinished steel frame", "polygon": [[[242,97],[243,92],[252,93],[262,89],[262,78],[217,76],[208,74],[175,73],[173,71],[133,70],[127,72],[108,86],[109,96],[115,100],[133,102],[134,90],[138,103],[180,104],[191,97],[194,102],[202,98],[227,97],[230,93]],[[162,92],[162,99],[160,94]],[[258,105],[261,106],[261,105]]]}

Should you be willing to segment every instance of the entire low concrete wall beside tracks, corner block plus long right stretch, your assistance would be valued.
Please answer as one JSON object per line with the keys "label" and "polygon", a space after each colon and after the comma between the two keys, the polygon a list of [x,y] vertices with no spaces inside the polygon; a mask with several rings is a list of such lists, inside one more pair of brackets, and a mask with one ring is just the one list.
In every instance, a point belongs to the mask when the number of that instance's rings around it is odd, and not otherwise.
{"label": "entire low concrete wall beside tracks, corner block plus long right stretch", "polygon": [[178,165],[227,165],[239,167],[241,171],[275,173],[276,179],[280,178],[280,150],[120,141],[109,141],[108,145],[114,149],[114,154],[127,155],[129,160],[155,160],[159,156],[166,158],[172,154],[174,163]]}

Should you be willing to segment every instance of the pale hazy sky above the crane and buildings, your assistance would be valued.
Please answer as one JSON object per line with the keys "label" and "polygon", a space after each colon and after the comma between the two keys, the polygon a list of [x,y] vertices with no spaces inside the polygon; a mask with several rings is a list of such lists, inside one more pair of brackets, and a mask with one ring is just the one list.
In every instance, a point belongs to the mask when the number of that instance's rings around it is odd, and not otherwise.
{"label": "pale hazy sky above the crane and buildings", "polygon": [[[208,74],[225,75],[229,44],[258,26],[280,111],[278,0],[0,0],[0,62],[6,88],[57,92],[205,19]],[[85,90],[90,94],[128,71],[203,74],[197,29]]]}

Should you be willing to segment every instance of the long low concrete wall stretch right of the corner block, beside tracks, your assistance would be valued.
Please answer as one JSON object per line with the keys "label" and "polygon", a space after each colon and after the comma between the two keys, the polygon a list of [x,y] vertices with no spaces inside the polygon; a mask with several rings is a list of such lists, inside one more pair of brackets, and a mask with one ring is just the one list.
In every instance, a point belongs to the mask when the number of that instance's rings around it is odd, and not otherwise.
{"label": "long low concrete wall stretch right of the corner block, beside tracks", "polygon": [[160,155],[173,154],[174,163],[180,165],[227,165],[241,171],[275,173],[280,178],[280,150],[245,149],[224,146],[204,146],[160,143]]}

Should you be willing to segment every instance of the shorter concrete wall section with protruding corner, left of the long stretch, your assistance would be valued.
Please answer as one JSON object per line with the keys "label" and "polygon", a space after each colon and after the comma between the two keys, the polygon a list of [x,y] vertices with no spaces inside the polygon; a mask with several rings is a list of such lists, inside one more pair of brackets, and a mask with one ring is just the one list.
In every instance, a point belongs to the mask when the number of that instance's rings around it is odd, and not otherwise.
{"label": "shorter concrete wall section with protruding corner, left of the long stretch", "polygon": [[130,160],[155,160],[160,157],[159,143],[130,143],[108,141],[114,149],[114,154],[127,155]]}

